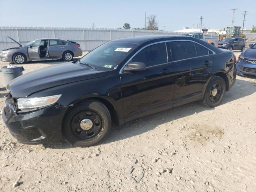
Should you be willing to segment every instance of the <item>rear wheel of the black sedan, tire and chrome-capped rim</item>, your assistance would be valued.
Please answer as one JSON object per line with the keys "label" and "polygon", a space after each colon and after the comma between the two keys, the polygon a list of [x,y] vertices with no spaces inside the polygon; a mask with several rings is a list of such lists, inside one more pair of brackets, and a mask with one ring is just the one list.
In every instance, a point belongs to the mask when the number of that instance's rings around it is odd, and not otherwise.
{"label": "rear wheel of the black sedan, tire and chrome-capped rim", "polygon": [[218,106],[223,100],[225,91],[226,83],[224,79],[220,76],[213,76],[206,87],[204,98],[201,100],[202,105],[210,108]]}

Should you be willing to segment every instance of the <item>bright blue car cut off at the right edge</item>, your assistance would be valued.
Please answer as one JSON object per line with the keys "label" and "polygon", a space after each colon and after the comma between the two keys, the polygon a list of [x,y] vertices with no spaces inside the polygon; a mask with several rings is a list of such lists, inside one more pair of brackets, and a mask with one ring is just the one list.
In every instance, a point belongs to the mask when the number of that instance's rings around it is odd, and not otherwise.
{"label": "bright blue car cut off at the right edge", "polygon": [[243,51],[238,57],[237,74],[256,76],[256,44]]}

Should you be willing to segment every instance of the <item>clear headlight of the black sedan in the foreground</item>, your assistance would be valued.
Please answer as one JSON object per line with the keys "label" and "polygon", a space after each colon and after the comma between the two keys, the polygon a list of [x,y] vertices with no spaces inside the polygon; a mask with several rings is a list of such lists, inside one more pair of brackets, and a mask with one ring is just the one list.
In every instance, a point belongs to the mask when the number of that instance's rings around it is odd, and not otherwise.
{"label": "clear headlight of the black sedan in the foreground", "polygon": [[40,107],[52,105],[58,101],[61,95],[38,98],[18,98],[18,108],[20,110],[36,110]]}

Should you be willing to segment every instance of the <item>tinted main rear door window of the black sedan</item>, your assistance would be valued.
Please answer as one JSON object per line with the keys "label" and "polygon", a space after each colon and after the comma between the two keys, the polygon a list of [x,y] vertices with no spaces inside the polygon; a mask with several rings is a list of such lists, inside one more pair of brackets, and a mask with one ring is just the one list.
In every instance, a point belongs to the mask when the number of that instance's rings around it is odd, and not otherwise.
{"label": "tinted main rear door window of the black sedan", "polygon": [[196,57],[196,48],[193,42],[190,41],[174,41],[169,42],[172,52],[172,60],[182,60]]}

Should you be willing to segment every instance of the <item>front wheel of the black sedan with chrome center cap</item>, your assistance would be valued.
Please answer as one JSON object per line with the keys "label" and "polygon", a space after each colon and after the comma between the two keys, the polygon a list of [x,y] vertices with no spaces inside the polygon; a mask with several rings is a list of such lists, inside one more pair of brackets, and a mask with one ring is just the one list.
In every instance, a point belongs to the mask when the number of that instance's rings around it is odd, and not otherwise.
{"label": "front wheel of the black sedan with chrome center cap", "polygon": [[90,147],[101,142],[111,128],[106,106],[97,100],[84,100],[72,107],[64,117],[64,139],[77,147]]}

